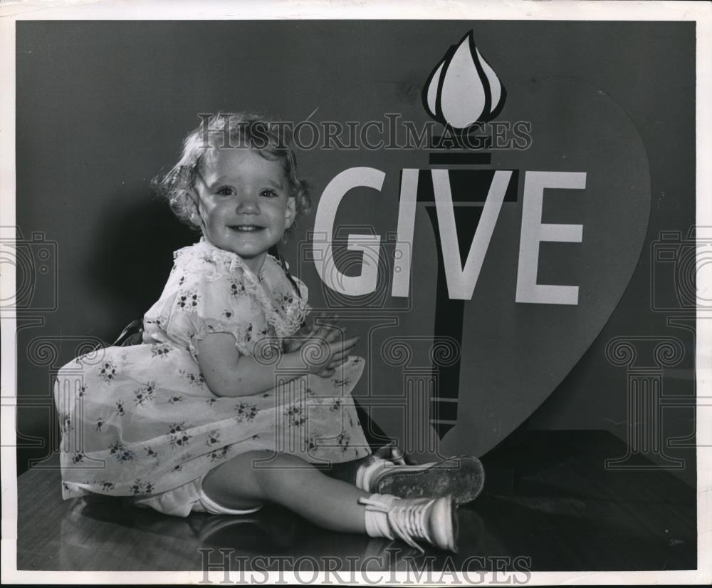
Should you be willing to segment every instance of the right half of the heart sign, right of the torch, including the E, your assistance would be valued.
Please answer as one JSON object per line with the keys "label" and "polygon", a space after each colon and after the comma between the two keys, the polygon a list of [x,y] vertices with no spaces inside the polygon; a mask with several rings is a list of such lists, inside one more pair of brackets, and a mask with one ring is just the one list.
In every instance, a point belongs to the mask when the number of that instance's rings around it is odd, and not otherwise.
{"label": "right half of the heart sign, right of the torch, including the E", "polygon": [[[493,153],[498,166],[520,170],[519,197],[503,204],[465,304],[457,423],[440,453],[485,452],[549,396],[611,316],[649,220],[646,151],[612,98],[572,78],[509,90],[508,110],[531,121],[533,142],[525,151]],[[572,177],[567,172],[585,173],[585,185],[557,183]],[[580,242],[556,242],[539,223],[579,225]],[[547,295],[537,287],[528,296],[527,278],[567,288]],[[574,286],[577,296],[565,300]]]}

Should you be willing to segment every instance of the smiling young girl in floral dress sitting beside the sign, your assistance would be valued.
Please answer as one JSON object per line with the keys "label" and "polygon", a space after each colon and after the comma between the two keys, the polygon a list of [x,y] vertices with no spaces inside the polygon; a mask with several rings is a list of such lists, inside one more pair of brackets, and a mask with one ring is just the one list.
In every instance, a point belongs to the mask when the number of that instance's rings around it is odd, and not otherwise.
{"label": "smiling young girl in floral dress sitting beside the sign", "polygon": [[268,254],[309,206],[289,138],[215,115],[159,189],[202,238],[174,253],[143,344],[59,372],[63,497],[130,496],[179,516],[276,502],[330,530],[456,550],[451,497],[373,494],[360,489],[372,470],[357,488],[316,467],[370,454],[350,396],[364,363],[335,329],[290,339],[307,289]]}

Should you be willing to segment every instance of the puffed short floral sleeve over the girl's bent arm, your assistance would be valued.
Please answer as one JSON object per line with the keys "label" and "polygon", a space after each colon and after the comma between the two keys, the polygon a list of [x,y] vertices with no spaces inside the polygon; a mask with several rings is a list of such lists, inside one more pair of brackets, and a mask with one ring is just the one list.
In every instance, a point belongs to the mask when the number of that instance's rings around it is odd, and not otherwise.
{"label": "puffed short floral sleeve over the girl's bent arm", "polygon": [[270,333],[263,304],[245,282],[240,271],[187,272],[179,279],[166,333],[196,360],[197,341],[211,333],[231,334],[241,354],[253,355],[255,342]]}

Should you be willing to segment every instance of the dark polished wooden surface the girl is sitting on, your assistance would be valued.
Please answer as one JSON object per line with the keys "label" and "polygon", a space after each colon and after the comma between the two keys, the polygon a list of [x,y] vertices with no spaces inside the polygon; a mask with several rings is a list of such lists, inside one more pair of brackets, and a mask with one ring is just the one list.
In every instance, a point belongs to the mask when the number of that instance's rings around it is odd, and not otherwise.
{"label": "dark polished wooden surface the girl is sitting on", "polygon": [[[451,561],[469,557],[471,571],[695,569],[696,490],[664,470],[604,468],[604,458],[623,454],[601,431],[530,431],[497,448],[483,458],[485,492],[459,509]],[[59,480],[58,470],[38,468],[19,478],[18,569],[200,570],[199,549],[211,548],[217,559],[221,548],[244,556],[244,569],[256,555],[281,557],[287,569],[300,556],[376,556],[400,568],[414,555],[402,543],[320,530],[280,507],[180,519],[120,500],[63,502]],[[427,553],[441,569],[445,554]]]}

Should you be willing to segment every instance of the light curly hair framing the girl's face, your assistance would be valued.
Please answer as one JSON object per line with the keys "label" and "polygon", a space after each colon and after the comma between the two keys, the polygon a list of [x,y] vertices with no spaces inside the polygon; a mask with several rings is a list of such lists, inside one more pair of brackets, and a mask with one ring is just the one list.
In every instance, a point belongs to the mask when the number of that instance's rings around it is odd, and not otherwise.
{"label": "light curly hair framing the girl's face", "polygon": [[[295,220],[311,207],[308,185],[297,175],[297,159],[287,125],[278,125],[255,113],[216,113],[202,117],[201,123],[183,141],[180,160],[167,173],[157,175],[153,189],[166,200],[174,215],[185,224],[199,228],[195,182],[204,171],[213,149],[251,148],[263,158],[279,161],[289,180],[289,195],[296,204]],[[286,230],[283,241],[295,223]]]}

